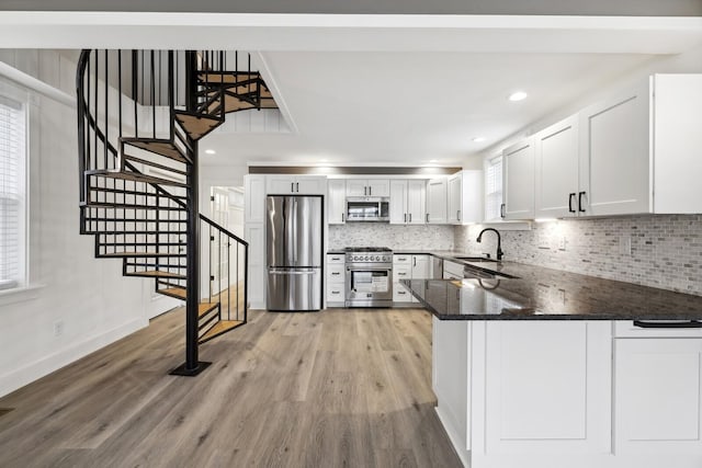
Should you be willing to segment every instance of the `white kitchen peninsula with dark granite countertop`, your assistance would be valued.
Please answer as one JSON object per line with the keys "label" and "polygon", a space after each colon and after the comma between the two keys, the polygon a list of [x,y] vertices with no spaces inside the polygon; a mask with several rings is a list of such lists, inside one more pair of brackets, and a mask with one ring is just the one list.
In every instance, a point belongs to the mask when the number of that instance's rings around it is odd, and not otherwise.
{"label": "white kitchen peninsula with dark granite countertop", "polygon": [[702,297],[512,262],[407,279],[463,464],[702,466]]}

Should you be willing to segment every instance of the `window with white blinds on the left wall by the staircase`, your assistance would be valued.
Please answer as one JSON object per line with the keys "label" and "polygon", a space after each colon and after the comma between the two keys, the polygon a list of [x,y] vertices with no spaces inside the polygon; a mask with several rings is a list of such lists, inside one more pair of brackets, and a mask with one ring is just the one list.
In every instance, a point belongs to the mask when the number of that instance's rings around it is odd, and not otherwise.
{"label": "window with white blinds on the left wall by the staircase", "polygon": [[0,290],[26,277],[25,106],[0,95]]}

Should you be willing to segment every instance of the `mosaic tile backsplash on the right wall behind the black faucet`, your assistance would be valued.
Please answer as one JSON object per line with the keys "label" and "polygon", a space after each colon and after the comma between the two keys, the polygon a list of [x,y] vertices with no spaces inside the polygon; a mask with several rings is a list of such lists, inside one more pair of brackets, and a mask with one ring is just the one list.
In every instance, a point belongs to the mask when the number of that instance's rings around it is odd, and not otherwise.
{"label": "mosaic tile backsplash on the right wall behind the black faucet", "polygon": [[[494,232],[475,241],[484,227],[456,227],[455,249],[494,256]],[[702,296],[700,215],[557,220],[500,233],[505,260]]]}

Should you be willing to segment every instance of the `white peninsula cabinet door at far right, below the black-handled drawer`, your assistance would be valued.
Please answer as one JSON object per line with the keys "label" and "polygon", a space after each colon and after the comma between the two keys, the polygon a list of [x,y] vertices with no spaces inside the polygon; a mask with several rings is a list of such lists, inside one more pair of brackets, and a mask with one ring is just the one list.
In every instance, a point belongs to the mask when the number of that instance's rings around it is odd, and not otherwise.
{"label": "white peninsula cabinet door at far right, below the black-handled drawer", "polygon": [[615,452],[699,463],[702,339],[616,339],[615,356]]}

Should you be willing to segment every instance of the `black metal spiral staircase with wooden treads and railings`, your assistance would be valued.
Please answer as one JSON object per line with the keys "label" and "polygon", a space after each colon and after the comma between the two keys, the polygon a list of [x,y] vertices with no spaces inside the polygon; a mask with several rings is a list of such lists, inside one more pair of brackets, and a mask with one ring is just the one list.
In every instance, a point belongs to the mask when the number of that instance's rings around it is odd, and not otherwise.
{"label": "black metal spiral staircase with wooden treads and railings", "polygon": [[[248,243],[199,214],[197,141],[228,112],[273,107],[225,52],[83,50],[77,72],[80,232],[125,276],[185,300],[185,364],[247,321]],[[204,243],[201,243],[201,240]],[[203,252],[208,252],[203,255]]]}

